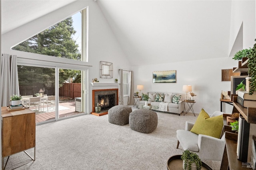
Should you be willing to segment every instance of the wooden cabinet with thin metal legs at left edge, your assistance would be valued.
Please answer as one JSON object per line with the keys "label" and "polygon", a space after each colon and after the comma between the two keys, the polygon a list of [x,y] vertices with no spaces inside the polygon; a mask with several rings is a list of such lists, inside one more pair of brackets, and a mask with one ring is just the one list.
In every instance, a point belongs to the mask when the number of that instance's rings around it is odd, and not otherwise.
{"label": "wooden cabinet with thin metal legs at left edge", "polygon": [[[2,111],[2,168],[4,157],[24,151],[32,160],[36,159],[36,113],[31,109]],[[34,148],[34,158],[26,150]]]}

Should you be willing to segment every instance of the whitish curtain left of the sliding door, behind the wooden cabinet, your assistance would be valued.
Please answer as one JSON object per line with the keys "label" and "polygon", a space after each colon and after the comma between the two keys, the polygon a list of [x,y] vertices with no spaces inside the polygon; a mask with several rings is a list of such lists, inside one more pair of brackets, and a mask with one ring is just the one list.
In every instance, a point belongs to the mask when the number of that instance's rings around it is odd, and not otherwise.
{"label": "whitish curtain left of the sliding door, behind the wooden cabinet", "polygon": [[17,56],[3,54],[1,57],[1,105],[8,106],[10,104],[10,96],[13,94],[20,95],[18,83]]}

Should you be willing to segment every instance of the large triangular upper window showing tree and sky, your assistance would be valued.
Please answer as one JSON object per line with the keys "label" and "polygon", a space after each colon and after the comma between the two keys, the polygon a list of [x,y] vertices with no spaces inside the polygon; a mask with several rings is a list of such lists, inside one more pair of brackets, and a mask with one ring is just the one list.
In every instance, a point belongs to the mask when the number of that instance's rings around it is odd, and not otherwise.
{"label": "large triangular upper window showing tree and sky", "polygon": [[12,49],[81,61],[81,49],[84,45],[82,34],[85,32],[82,32],[83,13],[85,10],[60,21]]}

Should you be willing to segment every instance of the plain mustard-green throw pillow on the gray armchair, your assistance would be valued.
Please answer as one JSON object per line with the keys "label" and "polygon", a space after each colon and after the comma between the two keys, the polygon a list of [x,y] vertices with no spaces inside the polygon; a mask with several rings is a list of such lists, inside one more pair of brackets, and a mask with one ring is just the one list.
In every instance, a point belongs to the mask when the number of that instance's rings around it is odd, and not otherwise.
{"label": "plain mustard-green throw pillow on the gray armchair", "polygon": [[196,134],[220,138],[223,127],[223,115],[210,117],[204,109],[198,115],[196,122],[190,130]]}

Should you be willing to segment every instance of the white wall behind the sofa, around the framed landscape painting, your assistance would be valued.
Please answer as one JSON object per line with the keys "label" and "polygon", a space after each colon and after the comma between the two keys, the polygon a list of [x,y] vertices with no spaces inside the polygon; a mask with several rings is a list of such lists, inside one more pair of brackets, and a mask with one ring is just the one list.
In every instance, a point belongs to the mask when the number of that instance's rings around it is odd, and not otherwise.
{"label": "white wall behind the sofa, around the framed landscape painting", "polygon": [[[230,81],[221,81],[221,70],[231,69],[237,65],[238,61],[226,57],[132,67],[134,71],[134,91],[136,91],[138,84],[142,84],[144,85],[144,90],[142,90],[144,93],[176,92],[185,96],[185,92],[182,92],[182,86],[192,85],[192,92],[197,95],[194,97],[196,101],[193,106],[194,111],[199,113],[203,106],[205,111],[211,114],[216,110],[220,111],[221,91],[230,91]],[[152,72],[164,70],[176,70],[176,83],[152,82]],[[226,105],[223,105],[223,111],[231,113],[232,107]]]}

